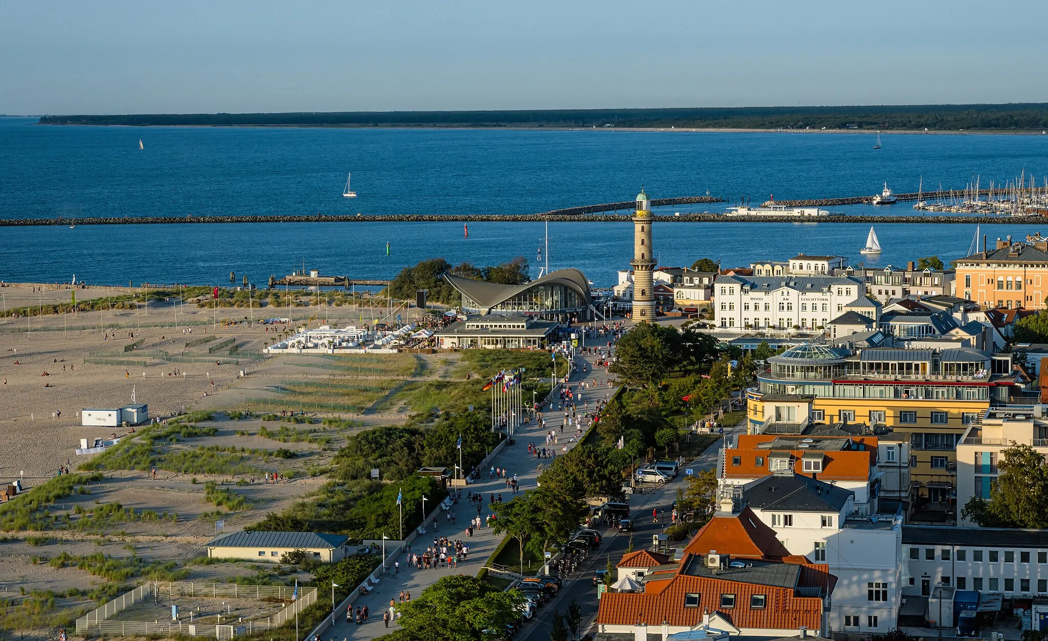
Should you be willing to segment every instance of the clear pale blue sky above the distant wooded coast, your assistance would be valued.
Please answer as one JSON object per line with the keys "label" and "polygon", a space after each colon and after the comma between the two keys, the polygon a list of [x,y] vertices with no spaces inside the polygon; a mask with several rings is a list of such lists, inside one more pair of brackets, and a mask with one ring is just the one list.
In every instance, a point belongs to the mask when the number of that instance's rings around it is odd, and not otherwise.
{"label": "clear pale blue sky above the distant wooded coast", "polygon": [[0,113],[1048,102],[1048,2],[0,0]]}

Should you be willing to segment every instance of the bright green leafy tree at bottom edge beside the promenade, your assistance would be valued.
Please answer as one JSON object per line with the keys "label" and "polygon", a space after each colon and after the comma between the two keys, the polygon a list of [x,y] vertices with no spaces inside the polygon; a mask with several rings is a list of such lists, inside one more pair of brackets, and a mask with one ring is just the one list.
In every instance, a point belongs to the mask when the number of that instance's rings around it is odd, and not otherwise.
{"label": "bright green leafy tree at bottom edge beside the promenade", "polygon": [[445,576],[401,604],[400,629],[389,641],[480,641],[485,629],[504,629],[520,616],[524,597],[500,592],[475,576]]}

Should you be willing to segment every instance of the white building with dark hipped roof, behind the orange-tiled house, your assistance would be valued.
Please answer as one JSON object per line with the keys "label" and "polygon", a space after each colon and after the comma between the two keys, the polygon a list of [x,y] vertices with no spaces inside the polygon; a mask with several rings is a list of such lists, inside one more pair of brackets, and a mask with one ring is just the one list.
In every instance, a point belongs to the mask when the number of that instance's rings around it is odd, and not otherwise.
{"label": "white building with dark hipped roof, behind the orange-tiled house", "polygon": [[902,515],[854,515],[853,492],[793,473],[742,488],[742,503],[791,554],[829,563],[837,577],[830,631],[883,634],[901,598]]}

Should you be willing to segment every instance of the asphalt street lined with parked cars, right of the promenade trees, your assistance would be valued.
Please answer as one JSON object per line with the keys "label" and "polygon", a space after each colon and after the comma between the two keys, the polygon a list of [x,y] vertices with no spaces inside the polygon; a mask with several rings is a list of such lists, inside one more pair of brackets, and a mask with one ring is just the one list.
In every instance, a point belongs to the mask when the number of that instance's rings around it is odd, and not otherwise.
{"label": "asphalt street lined with parked cars, right of the promenade trees", "polygon": [[[744,420],[738,425],[725,429],[725,435],[738,434],[740,432],[745,432]],[[634,527],[634,550],[651,548],[652,535],[662,532],[661,523],[652,523],[653,508],[660,510],[660,512],[664,510],[665,525],[670,524],[670,506],[673,505],[677,496],[677,490],[686,487],[683,470],[692,468],[698,473],[699,470],[703,469],[716,469],[720,451],[721,441],[718,440],[707,447],[699,458],[683,465],[681,472],[670,483],[649,494],[632,494],[630,496],[630,508],[632,510],[631,515]],[[607,567],[609,556],[611,557],[612,566],[616,565],[623,558],[630,544],[630,533],[619,533],[617,528],[601,528],[601,533],[604,536],[601,547],[590,553],[586,562],[580,567],[575,575],[566,582],[556,596],[543,605],[539,614],[531,621],[524,624],[521,633],[515,638],[515,641],[544,641],[549,639],[550,631],[552,629],[553,612],[566,612],[572,598],[582,606],[582,634],[585,635],[587,632],[593,632],[590,628],[595,626],[596,612],[599,604],[596,599],[596,588],[592,583],[593,573]]]}

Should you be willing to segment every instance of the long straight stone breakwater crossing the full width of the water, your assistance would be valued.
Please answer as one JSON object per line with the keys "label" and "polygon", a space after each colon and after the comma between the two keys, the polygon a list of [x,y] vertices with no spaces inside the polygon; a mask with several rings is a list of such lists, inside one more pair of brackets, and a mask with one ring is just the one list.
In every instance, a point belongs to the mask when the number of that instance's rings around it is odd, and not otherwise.
{"label": "long straight stone breakwater crossing the full width of the water", "polygon": [[[548,214],[499,215],[389,215],[389,216],[144,216],[136,218],[95,217],[78,218],[18,218],[2,219],[0,226],[29,227],[44,225],[152,225],[152,224],[210,224],[210,223],[304,223],[304,222],[630,222],[629,214],[575,214],[551,216]],[[1016,224],[1039,222],[1040,216],[724,216],[722,214],[655,215],[653,222],[689,223],[949,223],[949,224]]]}

